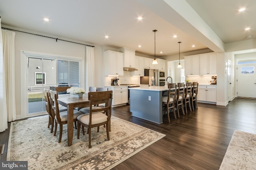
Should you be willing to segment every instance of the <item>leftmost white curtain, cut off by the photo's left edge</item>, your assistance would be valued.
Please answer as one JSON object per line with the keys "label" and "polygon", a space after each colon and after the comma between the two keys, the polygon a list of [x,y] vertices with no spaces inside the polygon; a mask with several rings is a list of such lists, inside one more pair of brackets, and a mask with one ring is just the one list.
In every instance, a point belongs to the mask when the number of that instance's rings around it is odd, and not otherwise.
{"label": "leftmost white curtain, cut off by the photo's left edge", "polygon": [[[0,26],[1,26],[1,18],[0,18]],[[2,39],[2,31],[0,31],[0,132],[5,131],[5,129],[7,128],[8,128],[8,125],[7,125],[3,39]]]}

